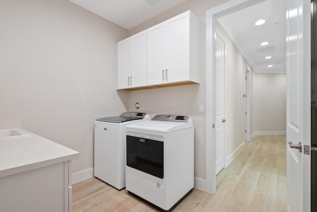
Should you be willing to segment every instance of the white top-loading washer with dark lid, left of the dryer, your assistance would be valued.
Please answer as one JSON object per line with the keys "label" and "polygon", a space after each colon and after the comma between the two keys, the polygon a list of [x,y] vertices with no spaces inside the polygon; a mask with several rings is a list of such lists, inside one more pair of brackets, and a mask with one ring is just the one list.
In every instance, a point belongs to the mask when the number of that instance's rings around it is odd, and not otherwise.
{"label": "white top-loading washer with dark lid, left of the dryer", "polygon": [[94,176],[111,186],[125,187],[125,139],[128,124],[150,120],[146,113],[125,112],[95,121]]}

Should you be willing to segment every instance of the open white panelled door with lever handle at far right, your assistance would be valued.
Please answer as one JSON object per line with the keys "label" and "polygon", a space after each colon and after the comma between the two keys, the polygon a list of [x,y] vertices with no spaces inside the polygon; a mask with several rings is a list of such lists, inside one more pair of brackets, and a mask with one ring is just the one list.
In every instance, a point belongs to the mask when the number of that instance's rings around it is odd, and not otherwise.
{"label": "open white panelled door with lever handle at far right", "polygon": [[[289,212],[308,212],[311,170],[310,155],[304,154],[304,145],[311,144],[310,0],[287,3],[287,206]],[[303,151],[293,148],[291,143]]]}

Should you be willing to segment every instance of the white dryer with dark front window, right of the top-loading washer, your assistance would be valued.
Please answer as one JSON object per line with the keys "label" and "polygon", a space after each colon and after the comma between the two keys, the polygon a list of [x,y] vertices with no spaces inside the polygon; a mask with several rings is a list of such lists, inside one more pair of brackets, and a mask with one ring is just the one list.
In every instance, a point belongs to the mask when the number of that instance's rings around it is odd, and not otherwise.
{"label": "white dryer with dark front window, right of the top-loading washer", "polygon": [[157,115],[127,126],[126,189],[160,211],[194,187],[194,126],[187,116]]}

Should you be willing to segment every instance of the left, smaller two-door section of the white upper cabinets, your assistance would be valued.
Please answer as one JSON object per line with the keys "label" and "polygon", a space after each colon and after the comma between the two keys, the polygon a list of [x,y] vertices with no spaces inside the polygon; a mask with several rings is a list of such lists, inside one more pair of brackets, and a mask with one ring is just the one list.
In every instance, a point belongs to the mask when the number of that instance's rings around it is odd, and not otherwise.
{"label": "left, smaller two-door section of the white upper cabinets", "polygon": [[118,89],[147,85],[146,31],[118,42]]}

